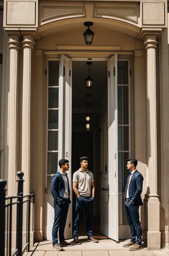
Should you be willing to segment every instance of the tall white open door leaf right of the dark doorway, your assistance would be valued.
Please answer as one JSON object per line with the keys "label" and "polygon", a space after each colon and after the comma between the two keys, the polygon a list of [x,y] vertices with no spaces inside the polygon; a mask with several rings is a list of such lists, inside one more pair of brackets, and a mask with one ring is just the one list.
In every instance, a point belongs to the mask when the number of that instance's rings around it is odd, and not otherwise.
{"label": "tall white open door leaf right of the dark doorway", "polygon": [[[114,67],[116,71],[116,75],[113,77],[113,69],[110,66],[110,62],[114,59]],[[114,54],[109,60],[108,60],[108,71],[110,71],[110,77],[108,77],[108,181],[109,184],[109,216],[108,216],[108,223],[109,223],[109,237],[113,240],[118,241],[118,127],[117,127],[117,54]],[[111,78],[114,80],[111,83]],[[114,97],[111,95],[111,85],[114,87]],[[112,92],[113,93],[113,92]],[[112,97],[111,97],[112,96]],[[111,97],[111,98],[110,98]],[[113,99],[114,98],[114,99]],[[114,124],[111,122],[111,102],[114,100]],[[113,128],[111,127],[114,125],[114,131],[111,131]],[[111,130],[110,130],[111,127]],[[115,136],[112,135],[114,132]],[[113,137],[111,137],[113,136]],[[110,139],[111,137],[111,139]],[[114,142],[112,143],[111,140]],[[112,155],[113,154],[113,155]],[[116,158],[115,158],[116,154]],[[113,159],[113,160],[112,160]],[[115,170],[109,171],[109,168],[112,166],[112,161],[115,164]],[[116,174],[116,177],[115,177]],[[112,192],[112,185],[115,186],[115,193]],[[112,198],[112,196],[116,197],[115,200]],[[115,205],[113,205],[115,204]],[[114,207],[116,207],[114,212]],[[113,217],[112,217],[113,213]],[[114,218],[116,219],[115,227],[113,226],[112,222],[114,221]],[[115,229],[115,234],[113,234]]]}

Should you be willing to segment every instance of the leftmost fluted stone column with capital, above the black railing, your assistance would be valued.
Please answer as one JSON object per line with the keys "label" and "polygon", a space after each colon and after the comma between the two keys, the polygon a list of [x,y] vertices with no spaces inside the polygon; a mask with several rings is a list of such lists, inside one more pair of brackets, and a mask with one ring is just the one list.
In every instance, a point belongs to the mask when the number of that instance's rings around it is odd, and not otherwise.
{"label": "leftmost fluted stone column with capital, above the black railing", "polygon": [[17,173],[17,151],[18,151],[18,62],[20,51],[20,36],[9,35],[8,42],[10,49],[10,89],[9,89],[9,165],[8,165],[8,195],[16,194],[16,173]]}

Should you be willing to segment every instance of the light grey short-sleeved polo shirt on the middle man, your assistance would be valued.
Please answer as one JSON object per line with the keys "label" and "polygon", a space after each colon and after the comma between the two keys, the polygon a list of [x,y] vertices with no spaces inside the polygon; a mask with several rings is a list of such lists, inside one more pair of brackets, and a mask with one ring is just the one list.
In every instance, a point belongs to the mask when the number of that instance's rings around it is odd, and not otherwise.
{"label": "light grey short-sleeved polo shirt on the middle man", "polygon": [[91,195],[91,182],[94,181],[93,174],[91,171],[82,171],[80,168],[73,174],[73,182],[77,182],[77,189],[80,195],[90,196]]}

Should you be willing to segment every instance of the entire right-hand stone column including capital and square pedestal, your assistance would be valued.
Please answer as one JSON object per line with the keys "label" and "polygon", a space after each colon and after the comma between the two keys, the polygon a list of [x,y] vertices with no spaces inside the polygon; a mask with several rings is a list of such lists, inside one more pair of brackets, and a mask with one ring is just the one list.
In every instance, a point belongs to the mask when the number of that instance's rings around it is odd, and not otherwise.
{"label": "entire right-hand stone column including capital and square pedestal", "polygon": [[[147,160],[148,180],[144,208],[147,217],[146,240],[149,250],[160,250],[160,203],[157,194],[157,113],[156,113],[156,71],[155,48],[157,39],[154,33],[145,35],[144,45],[147,50]],[[144,237],[144,234],[143,234]]]}

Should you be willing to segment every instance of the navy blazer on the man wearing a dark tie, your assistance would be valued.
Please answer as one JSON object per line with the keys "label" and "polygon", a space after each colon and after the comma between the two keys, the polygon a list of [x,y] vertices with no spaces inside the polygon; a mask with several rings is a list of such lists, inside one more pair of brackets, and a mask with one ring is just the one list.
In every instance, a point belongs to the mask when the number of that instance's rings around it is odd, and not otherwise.
{"label": "navy blazer on the man wearing a dark tie", "polygon": [[[130,175],[131,173],[128,175],[128,178],[127,178],[125,198],[127,195],[127,184],[128,184]],[[140,174],[139,171],[135,170],[135,172],[131,177],[130,185],[128,188],[129,200],[132,200],[135,206],[143,205],[142,198],[141,198],[141,194],[143,190],[143,180],[144,179],[142,174]]]}

